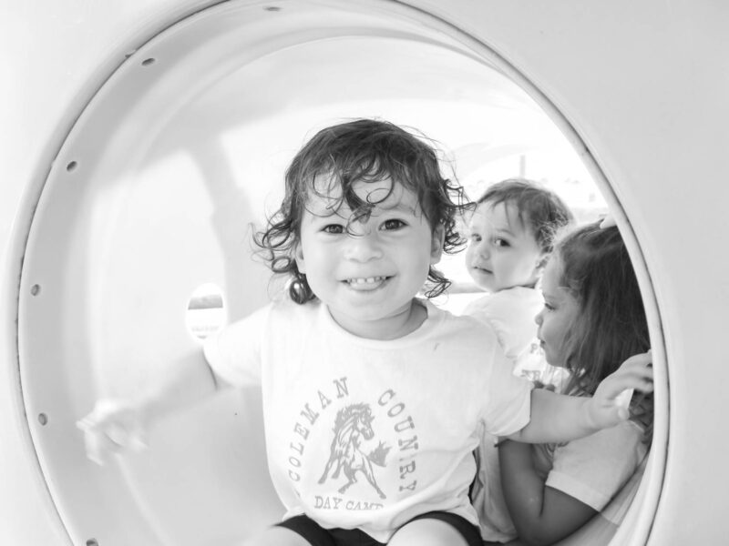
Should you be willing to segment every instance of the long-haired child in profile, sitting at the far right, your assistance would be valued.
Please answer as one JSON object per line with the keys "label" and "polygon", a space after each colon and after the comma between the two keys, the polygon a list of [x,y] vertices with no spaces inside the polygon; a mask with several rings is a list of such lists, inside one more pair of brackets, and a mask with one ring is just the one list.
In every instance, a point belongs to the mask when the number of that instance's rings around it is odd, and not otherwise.
{"label": "long-haired child in profile, sitting at the far right", "polygon": [[[566,394],[592,396],[623,361],[650,349],[641,293],[617,227],[591,224],[558,241],[541,288],[538,337],[549,364],[570,371]],[[504,497],[520,543],[560,541],[631,479],[648,451],[652,395],[636,393],[629,410],[629,420],[580,440],[500,444]],[[624,506],[617,508],[603,511],[603,531],[620,523]]]}

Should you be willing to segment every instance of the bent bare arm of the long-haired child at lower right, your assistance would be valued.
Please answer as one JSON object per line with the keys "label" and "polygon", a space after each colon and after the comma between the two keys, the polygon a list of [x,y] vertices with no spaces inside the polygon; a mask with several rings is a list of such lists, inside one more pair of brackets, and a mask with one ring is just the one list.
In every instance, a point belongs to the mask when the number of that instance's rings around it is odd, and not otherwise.
{"label": "bent bare arm of the long-haired child at lower right", "polygon": [[526,544],[552,544],[579,529],[597,511],[560,490],[544,485],[529,444],[499,444],[504,500],[519,539]]}

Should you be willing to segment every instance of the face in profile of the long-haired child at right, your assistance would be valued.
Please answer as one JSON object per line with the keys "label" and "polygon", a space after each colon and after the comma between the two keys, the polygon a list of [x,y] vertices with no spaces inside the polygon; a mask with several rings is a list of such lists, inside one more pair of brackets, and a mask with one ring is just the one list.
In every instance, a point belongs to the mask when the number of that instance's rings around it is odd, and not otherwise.
{"label": "face in profile of the long-haired child at right", "polygon": [[560,287],[561,265],[551,258],[541,278],[544,307],[534,321],[544,356],[552,366],[563,368],[567,361],[565,339],[580,312],[580,304],[567,288]]}

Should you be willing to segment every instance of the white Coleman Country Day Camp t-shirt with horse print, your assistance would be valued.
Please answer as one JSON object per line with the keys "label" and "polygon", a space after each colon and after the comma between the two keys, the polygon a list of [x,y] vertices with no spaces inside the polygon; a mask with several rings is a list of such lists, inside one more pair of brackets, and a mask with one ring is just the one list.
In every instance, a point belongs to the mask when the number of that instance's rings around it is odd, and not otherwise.
{"label": "white Coleman Country Day Camp t-shirt with horse print", "polygon": [[492,332],[423,302],[392,340],[358,338],[320,303],[275,303],[205,344],[232,385],[261,384],[269,469],[287,511],[386,542],[427,511],[477,524],[468,499],[478,430],[529,422],[529,381]]}

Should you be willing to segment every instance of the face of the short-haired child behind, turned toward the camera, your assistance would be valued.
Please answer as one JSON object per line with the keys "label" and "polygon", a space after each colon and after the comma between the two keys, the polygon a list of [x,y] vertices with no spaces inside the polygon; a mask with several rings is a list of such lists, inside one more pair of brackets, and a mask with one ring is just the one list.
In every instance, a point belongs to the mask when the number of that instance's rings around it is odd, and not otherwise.
{"label": "face of the short-haired child behind, turned toward the camera", "polygon": [[468,273],[479,288],[533,287],[545,254],[511,203],[481,203],[469,223]]}

